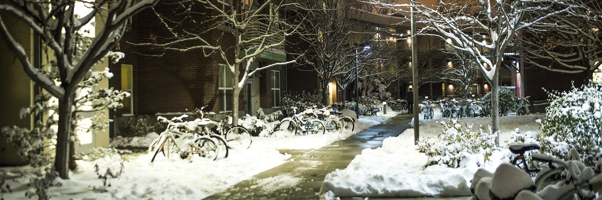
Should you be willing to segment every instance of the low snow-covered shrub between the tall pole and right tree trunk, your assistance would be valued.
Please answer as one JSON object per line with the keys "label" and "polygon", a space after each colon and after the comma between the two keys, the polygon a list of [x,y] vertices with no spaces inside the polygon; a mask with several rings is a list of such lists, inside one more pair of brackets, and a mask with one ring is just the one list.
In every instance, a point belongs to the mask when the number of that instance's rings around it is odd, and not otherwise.
{"label": "low snow-covered shrub between the tall pole and right tree trunk", "polygon": [[[443,129],[437,136],[427,136],[418,141],[418,151],[429,156],[430,165],[447,165],[461,168],[466,162],[482,166],[496,150],[495,135],[491,129],[471,132],[472,126],[459,120],[441,121]],[[466,159],[466,160],[465,160]],[[462,162],[463,160],[464,163]]]}

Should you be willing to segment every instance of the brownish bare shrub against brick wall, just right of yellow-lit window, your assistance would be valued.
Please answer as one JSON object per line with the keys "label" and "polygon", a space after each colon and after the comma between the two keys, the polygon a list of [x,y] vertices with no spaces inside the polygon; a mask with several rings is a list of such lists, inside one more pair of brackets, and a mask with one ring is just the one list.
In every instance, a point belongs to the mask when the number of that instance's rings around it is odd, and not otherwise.
{"label": "brownish bare shrub against brick wall, just right of yellow-lit window", "polygon": [[157,121],[154,115],[135,115],[129,118],[125,127],[120,129],[120,136],[128,137],[143,137],[147,133],[161,133],[167,128],[167,124]]}

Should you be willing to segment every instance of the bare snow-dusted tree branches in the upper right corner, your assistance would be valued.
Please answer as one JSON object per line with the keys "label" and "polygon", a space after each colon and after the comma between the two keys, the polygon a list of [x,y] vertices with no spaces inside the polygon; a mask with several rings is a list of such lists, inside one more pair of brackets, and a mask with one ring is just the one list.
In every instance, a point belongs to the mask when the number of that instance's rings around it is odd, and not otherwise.
{"label": "bare snow-dusted tree branches in the upper right corner", "polygon": [[521,58],[538,67],[563,73],[585,72],[585,82],[602,65],[602,4],[576,0],[562,16],[553,16],[522,32]]}

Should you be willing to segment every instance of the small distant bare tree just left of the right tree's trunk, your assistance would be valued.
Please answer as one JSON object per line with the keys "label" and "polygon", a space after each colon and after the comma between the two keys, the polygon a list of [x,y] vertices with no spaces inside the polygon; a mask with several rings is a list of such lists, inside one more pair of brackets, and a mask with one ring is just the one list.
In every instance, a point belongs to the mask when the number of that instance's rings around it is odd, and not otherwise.
{"label": "small distant bare tree just left of the right tree's trunk", "polygon": [[451,80],[459,85],[456,91],[464,94],[464,99],[468,98],[470,86],[479,79],[479,65],[470,58],[468,53],[458,49],[450,49],[447,52],[452,57],[451,64],[442,71],[441,79]]}

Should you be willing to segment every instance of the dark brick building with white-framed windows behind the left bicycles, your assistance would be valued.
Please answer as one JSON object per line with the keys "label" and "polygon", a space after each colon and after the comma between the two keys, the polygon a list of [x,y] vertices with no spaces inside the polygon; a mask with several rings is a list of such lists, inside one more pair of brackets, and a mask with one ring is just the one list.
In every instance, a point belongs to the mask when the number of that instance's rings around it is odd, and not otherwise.
{"label": "dark brick building with white-framed windows behind the left bicycles", "polygon": [[[246,9],[257,7],[243,5]],[[243,2],[245,3],[245,2]],[[164,47],[141,44],[157,44],[173,41],[173,34],[165,28],[156,13],[166,17],[181,17],[174,14],[175,4],[158,4],[154,10],[147,9],[134,16],[128,32],[123,36],[117,50],[125,53],[125,58],[113,64],[113,86],[131,92],[131,97],[124,101],[124,108],[114,112],[116,127],[124,126],[132,115],[179,115],[208,105],[205,111],[214,112],[211,118],[223,117],[220,112],[232,111],[233,74],[226,67],[219,53],[206,56],[203,49],[186,51],[171,50]],[[202,7],[193,7],[198,13],[211,13]],[[155,13],[156,12],[156,13]],[[190,24],[182,25],[188,30],[208,29],[208,25],[193,23],[205,21],[209,14],[196,16]],[[185,21],[183,21],[185,22]],[[256,26],[263,26],[257,23]],[[263,27],[258,27],[261,29]],[[210,31],[200,31],[200,37],[214,46],[220,46],[228,55],[234,55],[234,35],[229,34],[228,24],[220,25]],[[276,35],[284,37],[284,35]],[[199,41],[190,41],[185,46],[202,45]],[[276,62],[285,61],[284,45],[273,47],[261,53],[252,63],[253,68],[264,67]],[[228,62],[234,61],[228,56]],[[241,67],[241,73],[244,67]],[[257,71],[244,84],[240,92],[239,115],[255,114],[262,108],[264,112],[277,111],[280,102],[280,91],[284,88],[283,67],[275,66]],[[242,77],[239,76],[240,78]],[[284,90],[284,89],[282,89]]]}

